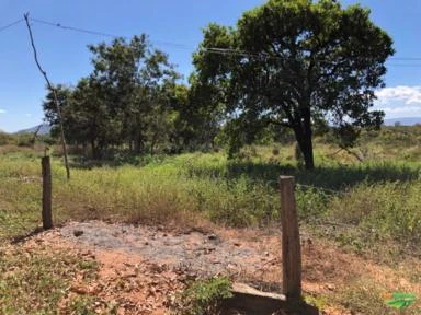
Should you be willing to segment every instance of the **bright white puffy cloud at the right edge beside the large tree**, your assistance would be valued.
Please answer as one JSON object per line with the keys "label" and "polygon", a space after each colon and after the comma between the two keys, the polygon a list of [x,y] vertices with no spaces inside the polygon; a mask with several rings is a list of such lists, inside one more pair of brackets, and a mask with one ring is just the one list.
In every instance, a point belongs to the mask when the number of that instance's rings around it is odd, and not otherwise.
{"label": "bright white puffy cloud at the right edge beside the large tree", "polygon": [[421,104],[421,85],[398,85],[385,88],[376,92],[379,104],[400,102],[405,105]]}

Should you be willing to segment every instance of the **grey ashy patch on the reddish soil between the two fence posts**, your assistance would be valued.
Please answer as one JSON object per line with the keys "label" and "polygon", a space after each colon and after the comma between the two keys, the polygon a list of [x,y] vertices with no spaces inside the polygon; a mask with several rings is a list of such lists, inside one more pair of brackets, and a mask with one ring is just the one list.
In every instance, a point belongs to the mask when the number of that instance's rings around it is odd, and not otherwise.
{"label": "grey ashy patch on the reddish soil between the two fence posts", "polygon": [[241,240],[221,240],[213,233],[171,233],[150,226],[100,221],[71,222],[61,228],[60,233],[75,243],[99,249],[123,250],[151,262],[186,268],[207,276],[259,270],[271,259],[262,248],[242,246]]}

